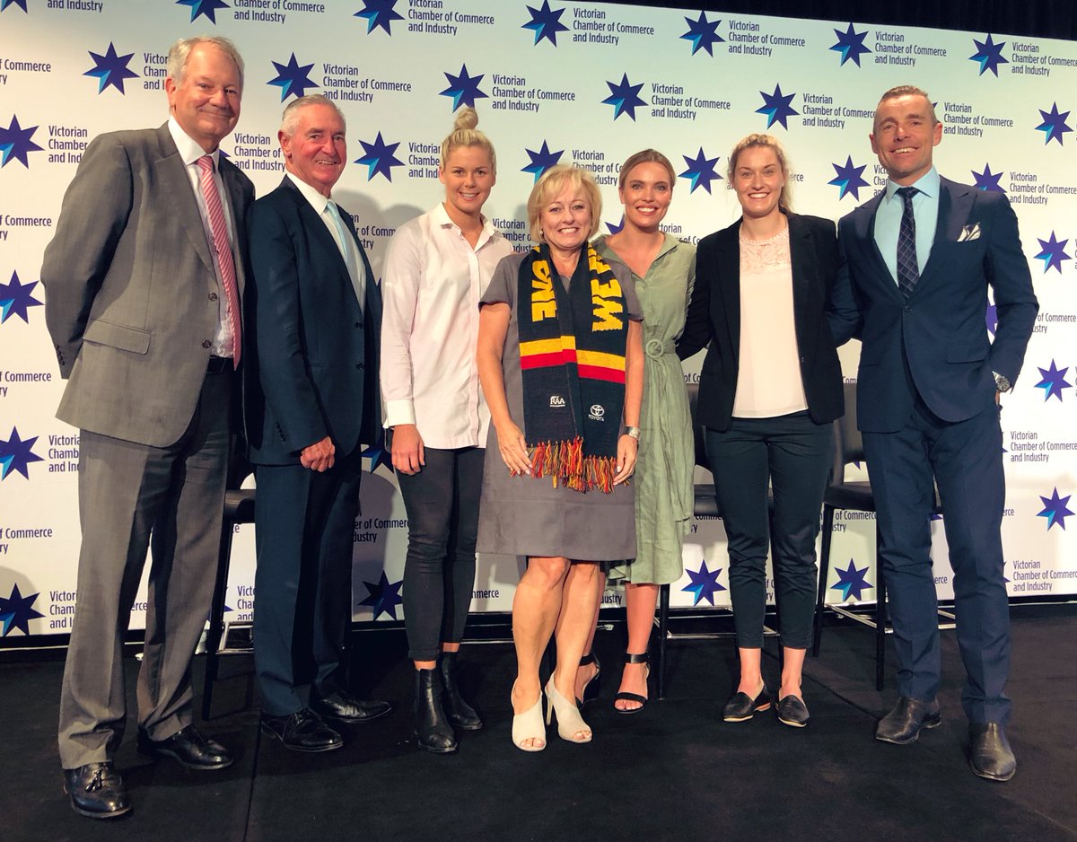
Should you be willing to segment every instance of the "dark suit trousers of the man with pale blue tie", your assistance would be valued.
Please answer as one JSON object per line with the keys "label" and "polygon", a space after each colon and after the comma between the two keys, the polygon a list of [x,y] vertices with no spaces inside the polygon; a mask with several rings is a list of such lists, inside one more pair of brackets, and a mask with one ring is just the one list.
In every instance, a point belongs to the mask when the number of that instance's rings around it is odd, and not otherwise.
{"label": "dark suit trousers of the man with pale blue tie", "polygon": [[254,668],[268,716],[344,689],[359,451],[324,473],[299,464],[254,467]]}

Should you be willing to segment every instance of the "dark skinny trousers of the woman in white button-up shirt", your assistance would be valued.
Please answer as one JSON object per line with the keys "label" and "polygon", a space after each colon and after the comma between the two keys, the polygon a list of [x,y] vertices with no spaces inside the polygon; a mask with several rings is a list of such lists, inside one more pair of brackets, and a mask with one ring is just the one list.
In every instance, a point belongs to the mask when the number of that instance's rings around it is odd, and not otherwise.
{"label": "dark skinny trousers of the woman in white button-up shirt", "polygon": [[442,643],[463,640],[475,587],[485,453],[480,447],[428,447],[422,471],[396,475],[408,521],[404,623],[411,660],[436,660]]}

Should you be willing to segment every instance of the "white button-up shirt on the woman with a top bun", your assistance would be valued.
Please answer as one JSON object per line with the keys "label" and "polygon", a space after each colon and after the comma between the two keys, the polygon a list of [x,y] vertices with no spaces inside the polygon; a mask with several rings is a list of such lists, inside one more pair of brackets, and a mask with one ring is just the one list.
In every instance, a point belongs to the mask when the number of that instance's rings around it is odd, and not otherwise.
{"label": "white button-up shirt on the woman with a top bun", "polygon": [[512,244],[486,220],[475,248],[443,205],[402,225],[381,279],[386,426],[426,447],[486,447],[490,410],[475,365],[478,299]]}

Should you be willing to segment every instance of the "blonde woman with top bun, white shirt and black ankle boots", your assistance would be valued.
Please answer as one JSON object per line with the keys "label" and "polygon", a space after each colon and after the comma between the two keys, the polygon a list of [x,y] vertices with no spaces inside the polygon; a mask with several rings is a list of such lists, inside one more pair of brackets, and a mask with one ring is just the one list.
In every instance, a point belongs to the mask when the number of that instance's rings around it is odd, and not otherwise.
{"label": "blonde woman with top bun, white shirt and black ankle boots", "polygon": [[435,754],[457,749],[453,727],[482,727],[456,680],[490,425],[475,343],[479,296],[513,247],[482,215],[496,158],[477,124],[474,109],[458,112],[442,144],[445,200],[397,229],[381,282],[381,389],[409,529],[404,622],[416,736]]}

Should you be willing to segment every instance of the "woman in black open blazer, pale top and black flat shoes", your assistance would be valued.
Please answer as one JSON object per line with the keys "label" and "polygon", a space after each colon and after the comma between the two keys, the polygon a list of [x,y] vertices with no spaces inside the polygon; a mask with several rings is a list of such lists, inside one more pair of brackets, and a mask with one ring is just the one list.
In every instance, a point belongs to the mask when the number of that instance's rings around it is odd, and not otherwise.
{"label": "woman in black open blazer, pale top and black flat shoes", "polygon": [[784,649],[778,717],[803,727],[800,692],[816,584],[815,538],[830,467],[831,424],[844,411],[841,366],[825,318],[838,270],[834,223],[789,210],[778,140],[750,135],[729,156],[741,219],[699,242],[696,286],[677,341],[684,360],[710,342],[697,421],[729,543],[741,675],[723,719],[771,705],[761,673],[766,562],[771,537]]}

